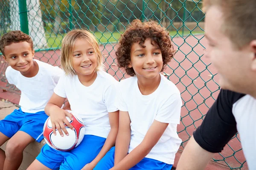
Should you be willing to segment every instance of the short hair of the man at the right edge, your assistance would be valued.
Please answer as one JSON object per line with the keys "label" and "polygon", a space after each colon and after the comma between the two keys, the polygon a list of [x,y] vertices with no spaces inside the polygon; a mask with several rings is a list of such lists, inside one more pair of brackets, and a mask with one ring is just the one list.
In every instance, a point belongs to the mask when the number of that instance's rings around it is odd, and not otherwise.
{"label": "short hair of the man at the right edge", "polygon": [[255,0],[204,0],[204,11],[217,6],[222,11],[222,33],[242,48],[256,40],[256,3]]}

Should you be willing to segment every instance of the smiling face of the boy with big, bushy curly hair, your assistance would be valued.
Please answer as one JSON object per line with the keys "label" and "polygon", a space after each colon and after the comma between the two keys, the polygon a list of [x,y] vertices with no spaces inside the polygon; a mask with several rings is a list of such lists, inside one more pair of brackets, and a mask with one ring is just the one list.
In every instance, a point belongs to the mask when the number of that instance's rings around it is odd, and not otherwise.
{"label": "smiling face of the boy with big, bushy curly hair", "polygon": [[142,46],[139,42],[132,44],[131,62],[128,67],[134,69],[138,79],[154,79],[163,68],[160,48],[152,44],[150,38],[147,38]]}

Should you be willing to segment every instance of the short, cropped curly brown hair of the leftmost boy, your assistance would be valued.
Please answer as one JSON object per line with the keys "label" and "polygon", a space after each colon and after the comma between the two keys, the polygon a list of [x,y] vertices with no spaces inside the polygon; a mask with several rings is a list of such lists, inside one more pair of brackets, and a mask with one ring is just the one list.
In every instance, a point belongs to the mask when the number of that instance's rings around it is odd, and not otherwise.
{"label": "short, cropped curly brown hair of the leftmost boy", "polygon": [[10,31],[6,34],[3,34],[3,37],[0,40],[0,51],[4,54],[4,48],[7,45],[18,42],[28,42],[31,45],[31,50],[33,50],[33,41],[28,34],[23,33],[22,31]]}

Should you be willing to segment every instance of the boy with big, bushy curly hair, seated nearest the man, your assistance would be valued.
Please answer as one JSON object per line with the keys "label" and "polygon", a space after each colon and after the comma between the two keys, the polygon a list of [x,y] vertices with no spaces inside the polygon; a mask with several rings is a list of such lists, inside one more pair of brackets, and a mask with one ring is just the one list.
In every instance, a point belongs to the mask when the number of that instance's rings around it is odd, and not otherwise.
{"label": "boy with big, bushy curly hair, seated nearest the man", "polygon": [[131,77],[117,87],[119,132],[116,146],[94,170],[170,170],[181,139],[177,136],[180,91],[162,74],[174,55],[165,28],[134,20],[122,34],[116,57]]}

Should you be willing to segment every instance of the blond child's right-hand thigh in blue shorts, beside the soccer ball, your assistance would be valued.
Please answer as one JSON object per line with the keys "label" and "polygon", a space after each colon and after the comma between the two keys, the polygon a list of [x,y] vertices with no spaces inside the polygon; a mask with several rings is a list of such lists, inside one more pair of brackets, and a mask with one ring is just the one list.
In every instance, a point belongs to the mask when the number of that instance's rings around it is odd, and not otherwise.
{"label": "blond child's right-hand thigh in blue shorts, beside the soccer ball", "polygon": [[64,161],[60,170],[81,170],[84,165],[96,158],[105,140],[105,138],[99,136],[85,135],[78,147],[62,153]]}

